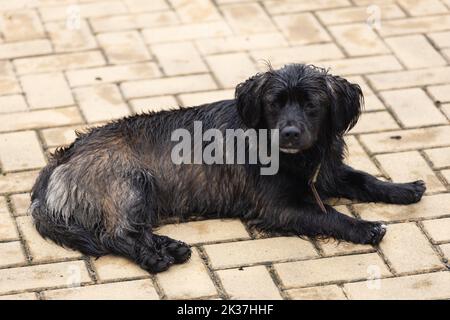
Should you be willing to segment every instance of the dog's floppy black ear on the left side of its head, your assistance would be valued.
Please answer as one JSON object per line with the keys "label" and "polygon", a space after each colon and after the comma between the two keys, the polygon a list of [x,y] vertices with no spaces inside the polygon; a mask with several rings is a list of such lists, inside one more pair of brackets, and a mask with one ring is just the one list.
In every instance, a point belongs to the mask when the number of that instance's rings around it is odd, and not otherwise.
{"label": "dog's floppy black ear on the left side of its head", "polygon": [[258,73],[236,87],[236,105],[242,121],[249,127],[255,128],[262,117],[263,90],[266,75]]}

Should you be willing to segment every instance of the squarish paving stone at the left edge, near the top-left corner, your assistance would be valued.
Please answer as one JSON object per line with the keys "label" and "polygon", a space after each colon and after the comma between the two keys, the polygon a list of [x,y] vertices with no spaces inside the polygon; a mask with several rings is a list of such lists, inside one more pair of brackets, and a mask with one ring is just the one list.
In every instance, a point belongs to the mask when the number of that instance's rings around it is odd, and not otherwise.
{"label": "squarish paving stone at the left edge, near the top-left corner", "polygon": [[0,17],[2,34],[7,41],[44,38],[44,28],[35,10],[14,10]]}

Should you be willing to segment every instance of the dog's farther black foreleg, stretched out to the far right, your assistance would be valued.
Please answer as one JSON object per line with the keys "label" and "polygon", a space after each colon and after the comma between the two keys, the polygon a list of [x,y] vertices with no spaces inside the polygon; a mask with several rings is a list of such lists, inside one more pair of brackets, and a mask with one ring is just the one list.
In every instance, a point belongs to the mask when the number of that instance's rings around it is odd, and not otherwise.
{"label": "dog's farther black foreleg, stretched out to the far right", "polygon": [[368,173],[342,166],[336,173],[329,196],[343,197],[364,202],[410,204],[420,201],[425,192],[421,180],[410,183],[382,181]]}

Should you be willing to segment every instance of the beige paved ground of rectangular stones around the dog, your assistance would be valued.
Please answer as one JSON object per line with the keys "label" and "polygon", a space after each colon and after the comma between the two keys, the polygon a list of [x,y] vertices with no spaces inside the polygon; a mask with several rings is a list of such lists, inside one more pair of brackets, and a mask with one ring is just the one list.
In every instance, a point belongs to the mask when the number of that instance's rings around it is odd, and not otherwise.
{"label": "beige paved ground of rectangular stones around the dog", "polygon": [[[450,298],[449,0],[74,2],[0,0],[0,298]],[[191,243],[192,260],[154,277],[37,235],[30,188],[74,129],[232,97],[264,60],[359,83],[348,161],[427,182],[412,206],[339,203],[388,221],[379,248],[192,222],[160,231]]]}

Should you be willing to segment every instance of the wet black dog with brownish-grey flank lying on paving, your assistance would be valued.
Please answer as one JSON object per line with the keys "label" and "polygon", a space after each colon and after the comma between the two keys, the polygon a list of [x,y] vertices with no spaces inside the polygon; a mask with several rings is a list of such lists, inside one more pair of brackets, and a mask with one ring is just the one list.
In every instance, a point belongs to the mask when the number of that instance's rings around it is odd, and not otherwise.
{"label": "wet black dog with brownish-grey flank lying on paving", "polygon": [[[153,231],[168,219],[240,218],[278,234],[378,244],[386,227],[342,213],[322,199],[410,204],[423,181],[392,183],[344,164],[344,134],[357,122],[363,95],[312,65],[289,64],[236,87],[235,99],[133,115],[78,133],[57,149],[32,189],[38,232],[99,257],[115,254],[157,273],[190,257],[190,247]],[[279,132],[279,170],[261,163],[174,164],[171,133],[205,129]]]}

